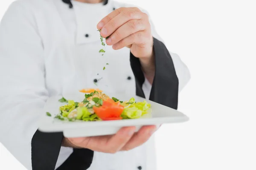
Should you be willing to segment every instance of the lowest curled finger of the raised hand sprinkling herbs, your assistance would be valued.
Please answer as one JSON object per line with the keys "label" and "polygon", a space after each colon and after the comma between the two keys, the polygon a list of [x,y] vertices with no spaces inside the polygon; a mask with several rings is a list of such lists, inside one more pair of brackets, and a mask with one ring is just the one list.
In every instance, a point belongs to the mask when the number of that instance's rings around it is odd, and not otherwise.
{"label": "lowest curled finger of the raised hand sprinkling herbs", "polygon": [[114,50],[119,50],[124,47],[131,47],[131,44],[137,44],[137,45],[143,45],[146,42],[150,41],[148,37],[145,34],[148,34],[146,31],[138,31],[134,34],[129,35],[128,37],[125,37],[124,39],[120,40],[119,42],[115,43],[112,48]]}

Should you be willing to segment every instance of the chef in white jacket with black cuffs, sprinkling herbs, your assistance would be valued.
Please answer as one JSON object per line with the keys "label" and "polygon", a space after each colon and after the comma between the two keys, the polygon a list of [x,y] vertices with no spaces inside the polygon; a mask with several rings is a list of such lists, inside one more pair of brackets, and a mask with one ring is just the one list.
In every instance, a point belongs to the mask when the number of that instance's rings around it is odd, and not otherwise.
{"label": "chef in white jacket with black cuffs, sprinkling herbs", "polygon": [[0,23],[0,142],[28,170],[156,170],[153,125],[66,138],[38,130],[40,116],[50,96],[82,88],[177,109],[189,78],[141,8],[113,0],[15,1]]}

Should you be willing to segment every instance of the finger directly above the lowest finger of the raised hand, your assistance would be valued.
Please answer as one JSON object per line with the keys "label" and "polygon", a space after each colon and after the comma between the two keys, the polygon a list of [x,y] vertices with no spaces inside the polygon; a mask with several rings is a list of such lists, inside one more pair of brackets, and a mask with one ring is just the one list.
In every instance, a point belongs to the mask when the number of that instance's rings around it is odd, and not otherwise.
{"label": "finger directly above the lowest finger of the raised hand", "polygon": [[106,40],[106,43],[108,45],[116,44],[125,37],[138,31],[143,31],[146,28],[147,25],[143,23],[143,20],[130,20],[113,32],[113,34]]}

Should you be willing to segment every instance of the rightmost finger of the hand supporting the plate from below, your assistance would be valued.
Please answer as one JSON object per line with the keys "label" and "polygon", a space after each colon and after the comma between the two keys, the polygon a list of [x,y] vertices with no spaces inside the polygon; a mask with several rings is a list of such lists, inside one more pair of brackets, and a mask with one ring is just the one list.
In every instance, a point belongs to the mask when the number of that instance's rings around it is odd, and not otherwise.
{"label": "rightmost finger of the hand supporting the plate from below", "polygon": [[156,126],[144,126],[130,139],[121,150],[131,150],[147,142],[151,135],[156,131]]}

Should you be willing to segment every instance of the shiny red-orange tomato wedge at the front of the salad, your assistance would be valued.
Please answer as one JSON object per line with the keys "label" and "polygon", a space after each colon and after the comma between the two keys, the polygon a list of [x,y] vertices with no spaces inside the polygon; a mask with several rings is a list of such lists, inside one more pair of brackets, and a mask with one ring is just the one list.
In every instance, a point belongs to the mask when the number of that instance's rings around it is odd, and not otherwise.
{"label": "shiny red-orange tomato wedge at the front of the salad", "polygon": [[94,106],[93,110],[102,120],[119,120],[122,119],[121,114],[124,107],[112,99],[108,99],[103,102],[101,107]]}

